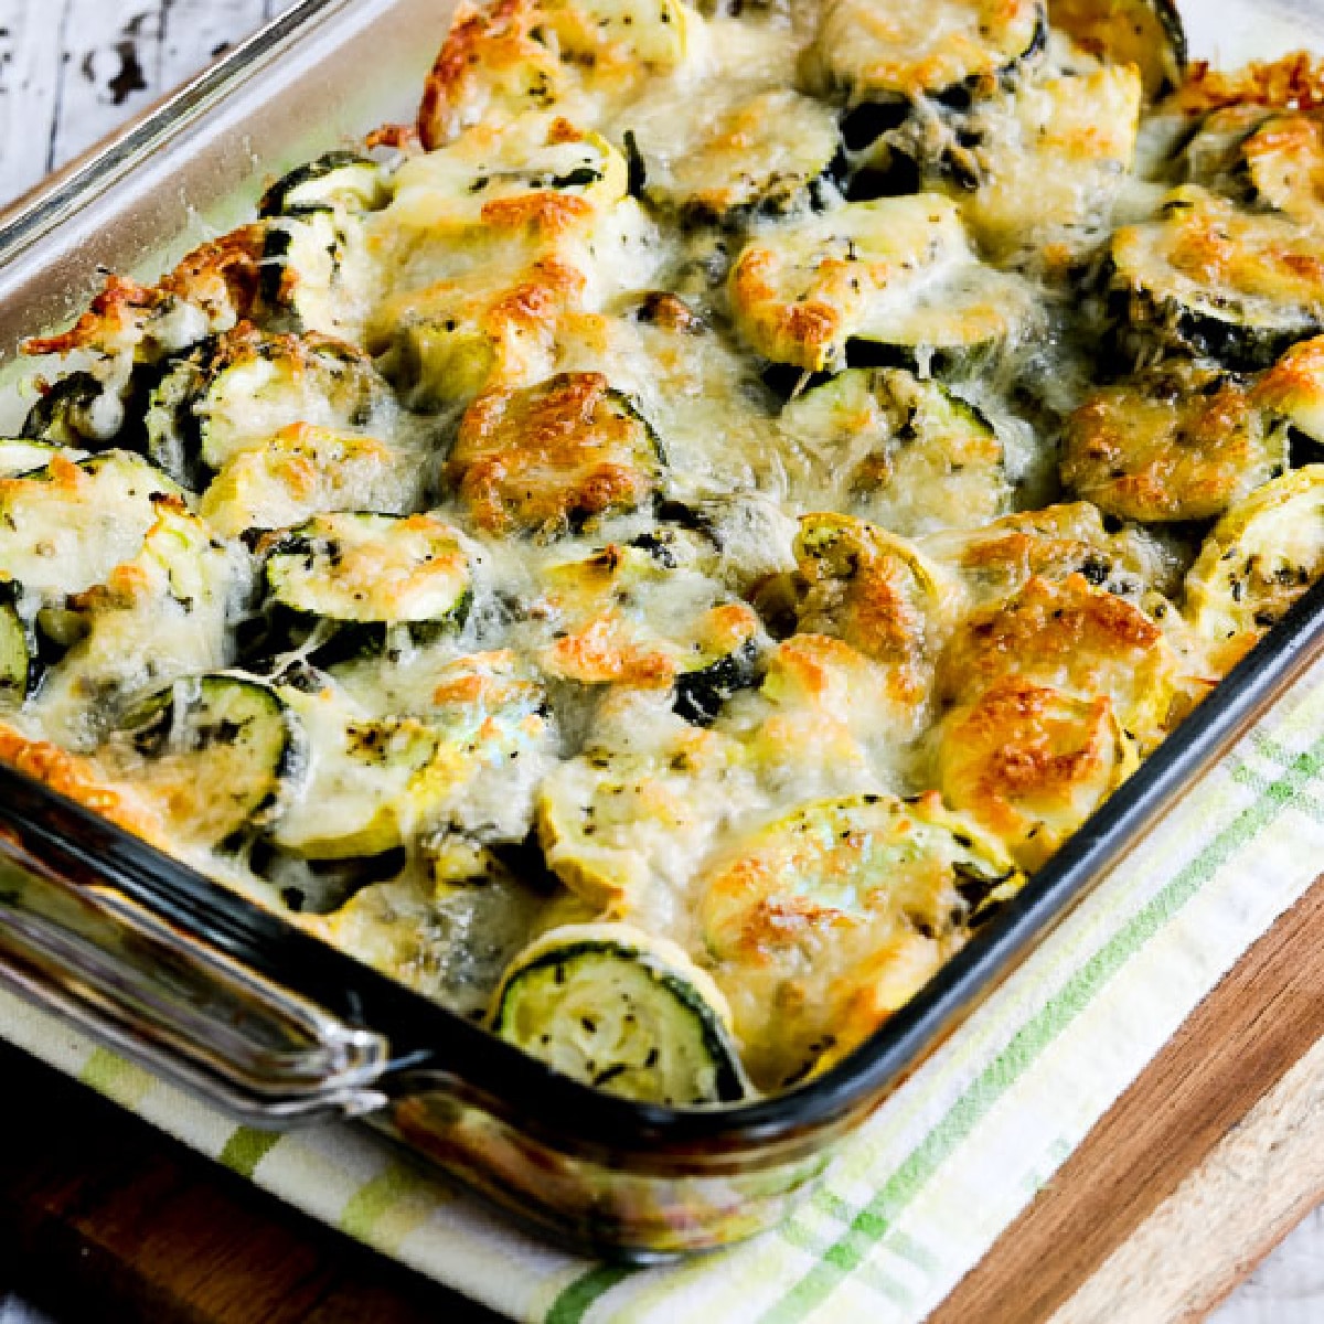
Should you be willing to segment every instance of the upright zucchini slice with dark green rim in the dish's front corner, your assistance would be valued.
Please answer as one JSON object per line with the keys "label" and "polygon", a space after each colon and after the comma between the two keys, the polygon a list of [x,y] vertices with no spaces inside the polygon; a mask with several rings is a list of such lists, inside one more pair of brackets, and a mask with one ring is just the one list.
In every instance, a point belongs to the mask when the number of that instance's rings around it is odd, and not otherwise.
{"label": "upright zucchini slice with dark green rim in the dish's front corner", "polygon": [[726,1000],[678,947],[628,924],[568,924],[522,952],[493,1030],[563,1075],[641,1103],[749,1094]]}

